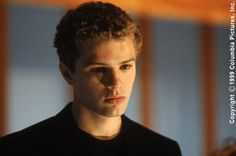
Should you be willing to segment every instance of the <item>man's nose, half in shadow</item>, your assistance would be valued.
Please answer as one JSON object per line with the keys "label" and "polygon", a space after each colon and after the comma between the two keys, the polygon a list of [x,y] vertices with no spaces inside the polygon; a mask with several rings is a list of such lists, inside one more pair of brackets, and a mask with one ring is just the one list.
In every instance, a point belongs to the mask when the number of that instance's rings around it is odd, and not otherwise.
{"label": "man's nose, half in shadow", "polygon": [[119,71],[112,70],[109,77],[109,83],[107,88],[109,90],[117,90],[121,87],[121,75]]}

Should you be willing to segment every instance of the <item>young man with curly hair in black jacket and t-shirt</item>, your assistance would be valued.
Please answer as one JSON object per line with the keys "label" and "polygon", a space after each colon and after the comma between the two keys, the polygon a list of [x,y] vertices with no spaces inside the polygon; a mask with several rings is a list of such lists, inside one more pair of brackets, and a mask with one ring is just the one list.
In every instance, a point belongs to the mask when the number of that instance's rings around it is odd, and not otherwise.
{"label": "young man with curly hair in black jacket and t-shirt", "polygon": [[139,27],[113,4],[88,2],[68,11],[55,47],[74,101],[1,138],[0,155],[180,156],[175,141],[123,115],[141,41]]}

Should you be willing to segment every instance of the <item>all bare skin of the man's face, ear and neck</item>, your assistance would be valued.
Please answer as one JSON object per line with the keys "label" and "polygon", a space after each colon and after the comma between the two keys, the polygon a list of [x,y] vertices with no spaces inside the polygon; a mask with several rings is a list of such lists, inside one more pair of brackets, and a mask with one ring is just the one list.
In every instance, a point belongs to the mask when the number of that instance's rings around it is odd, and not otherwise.
{"label": "all bare skin of the man's face, ear and neck", "polygon": [[[121,127],[136,74],[136,50],[130,37],[88,41],[71,72],[60,69],[74,90],[72,113],[78,127],[98,139],[115,137]],[[121,97],[121,101],[111,98]]]}

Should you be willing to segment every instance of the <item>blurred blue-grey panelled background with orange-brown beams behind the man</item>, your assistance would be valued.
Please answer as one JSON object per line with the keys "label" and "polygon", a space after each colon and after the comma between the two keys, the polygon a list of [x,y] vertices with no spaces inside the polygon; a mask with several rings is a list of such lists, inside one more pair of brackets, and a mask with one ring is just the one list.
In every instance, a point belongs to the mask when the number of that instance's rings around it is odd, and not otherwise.
{"label": "blurred blue-grey panelled background with orange-brown beams behind the man", "polygon": [[[71,91],[55,27],[84,0],[1,0],[0,136],[58,113]],[[144,46],[126,115],[207,156],[236,138],[229,124],[229,0],[110,0],[142,25]],[[157,147],[158,148],[158,147]]]}

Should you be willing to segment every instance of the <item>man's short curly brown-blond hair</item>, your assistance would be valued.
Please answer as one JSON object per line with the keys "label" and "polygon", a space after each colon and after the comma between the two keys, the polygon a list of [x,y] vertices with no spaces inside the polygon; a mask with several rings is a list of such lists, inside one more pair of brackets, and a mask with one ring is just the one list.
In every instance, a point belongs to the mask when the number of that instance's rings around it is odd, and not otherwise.
{"label": "man's short curly brown-blond hair", "polygon": [[131,36],[137,51],[142,45],[139,25],[121,8],[104,2],[87,2],[69,10],[57,25],[54,47],[60,61],[74,71],[85,41],[106,41]]}

